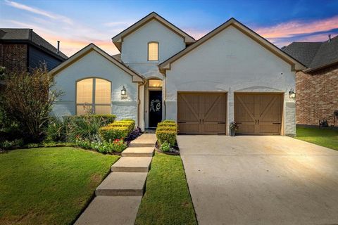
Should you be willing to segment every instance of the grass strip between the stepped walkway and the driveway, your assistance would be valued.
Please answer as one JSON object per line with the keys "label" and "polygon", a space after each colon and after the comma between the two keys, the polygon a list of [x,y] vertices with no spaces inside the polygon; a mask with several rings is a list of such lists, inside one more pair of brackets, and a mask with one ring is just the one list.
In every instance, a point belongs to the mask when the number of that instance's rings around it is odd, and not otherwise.
{"label": "grass strip between the stepped walkway and the driveway", "polygon": [[180,156],[154,155],[135,224],[197,224]]}

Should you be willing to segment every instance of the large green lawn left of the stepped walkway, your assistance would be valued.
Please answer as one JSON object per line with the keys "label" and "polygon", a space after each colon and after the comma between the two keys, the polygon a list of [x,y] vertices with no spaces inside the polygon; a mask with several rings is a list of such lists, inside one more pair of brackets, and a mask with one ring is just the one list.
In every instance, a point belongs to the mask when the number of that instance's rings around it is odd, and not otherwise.
{"label": "large green lawn left of the stepped walkway", "polygon": [[0,224],[72,224],[116,160],[70,147],[0,154]]}

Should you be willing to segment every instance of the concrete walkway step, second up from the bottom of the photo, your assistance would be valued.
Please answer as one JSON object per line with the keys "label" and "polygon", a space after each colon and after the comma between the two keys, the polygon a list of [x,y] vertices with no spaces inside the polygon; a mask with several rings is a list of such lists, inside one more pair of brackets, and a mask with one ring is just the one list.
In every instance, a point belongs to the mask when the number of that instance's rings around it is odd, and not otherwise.
{"label": "concrete walkway step, second up from the bottom of the photo", "polygon": [[96,188],[96,196],[142,196],[147,173],[113,172]]}

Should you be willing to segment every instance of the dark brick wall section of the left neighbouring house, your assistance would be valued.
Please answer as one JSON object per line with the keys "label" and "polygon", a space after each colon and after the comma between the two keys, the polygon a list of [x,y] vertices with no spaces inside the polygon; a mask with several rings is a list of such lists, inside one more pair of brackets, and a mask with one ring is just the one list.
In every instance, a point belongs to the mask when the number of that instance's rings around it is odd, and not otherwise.
{"label": "dark brick wall section of the left neighbouring house", "polygon": [[27,70],[27,44],[0,44],[0,65],[7,70]]}

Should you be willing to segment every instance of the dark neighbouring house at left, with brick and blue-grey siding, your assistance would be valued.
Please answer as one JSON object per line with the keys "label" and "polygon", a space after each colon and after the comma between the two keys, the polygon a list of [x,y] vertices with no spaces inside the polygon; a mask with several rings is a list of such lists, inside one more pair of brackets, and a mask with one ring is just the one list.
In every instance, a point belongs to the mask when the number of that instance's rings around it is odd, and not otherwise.
{"label": "dark neighbouring house at left, with brick and blue-grey siding", "polygon": [[32,29],[0,28],[0,66],[29,70],[46,63],[48,70],[68,57]]}

